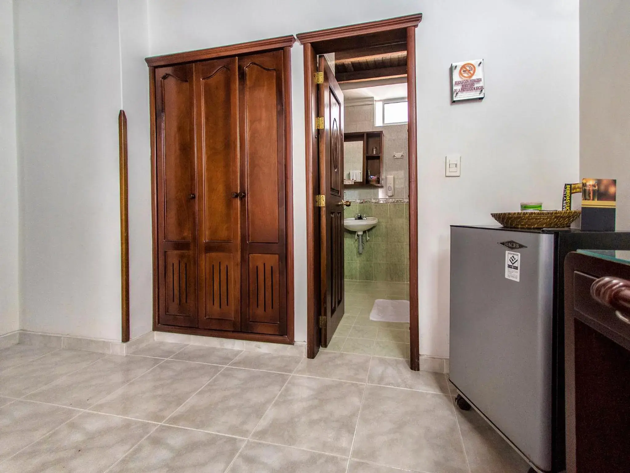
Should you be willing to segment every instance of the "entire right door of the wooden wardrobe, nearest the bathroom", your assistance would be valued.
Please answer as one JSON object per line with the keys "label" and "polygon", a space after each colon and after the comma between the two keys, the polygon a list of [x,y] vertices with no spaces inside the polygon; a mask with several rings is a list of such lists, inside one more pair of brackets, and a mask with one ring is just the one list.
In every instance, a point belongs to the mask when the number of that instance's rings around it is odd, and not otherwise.
{"label": "entire right door of the wooden wardrobe, nearest the bathroom", "polygon": [[239,57],[241,330],[286,335],[282,50]]}

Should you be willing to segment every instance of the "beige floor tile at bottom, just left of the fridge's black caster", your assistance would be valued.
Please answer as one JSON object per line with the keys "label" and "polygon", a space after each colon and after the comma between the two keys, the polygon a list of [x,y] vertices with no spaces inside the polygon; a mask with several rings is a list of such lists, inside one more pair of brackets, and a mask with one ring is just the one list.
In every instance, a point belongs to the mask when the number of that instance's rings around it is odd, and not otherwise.
{"label": "beige floor tile at bottom, just left of the fridge's black caster", "polygon": [[425,472],[468,471],[450,397],[407,389],[367,385],[352,457]]}

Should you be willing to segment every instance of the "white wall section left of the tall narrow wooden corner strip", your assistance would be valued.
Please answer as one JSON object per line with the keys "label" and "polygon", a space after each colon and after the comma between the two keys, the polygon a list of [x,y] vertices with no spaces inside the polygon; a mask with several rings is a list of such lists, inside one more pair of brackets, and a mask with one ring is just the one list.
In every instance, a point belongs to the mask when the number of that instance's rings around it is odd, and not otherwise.
{"label": "white wall section left of the tall narrow wooden corner strip", "polygon": [[119,341],[117,1],[14,8],[21,328]]}

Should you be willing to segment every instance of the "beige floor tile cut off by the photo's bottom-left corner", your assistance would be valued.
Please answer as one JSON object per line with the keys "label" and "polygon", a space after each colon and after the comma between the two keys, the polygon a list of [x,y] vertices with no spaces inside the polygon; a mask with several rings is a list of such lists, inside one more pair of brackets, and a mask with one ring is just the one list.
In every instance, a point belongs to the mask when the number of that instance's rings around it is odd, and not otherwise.
{"label": "beige floor tile cut off by the photo's bottom-left corner", "polygon": [[2,472],[100,473],[156,424],[84,412],[0,465]]}

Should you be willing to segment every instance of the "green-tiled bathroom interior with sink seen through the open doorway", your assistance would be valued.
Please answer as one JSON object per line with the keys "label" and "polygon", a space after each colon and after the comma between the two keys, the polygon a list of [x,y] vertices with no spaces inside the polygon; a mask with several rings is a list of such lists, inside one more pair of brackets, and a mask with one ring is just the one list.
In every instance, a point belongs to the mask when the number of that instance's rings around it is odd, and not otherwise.
{"label": "green-tiled bathroom interior with sink seen through the open doorway", "polygon": [[[372,82],[381,85],[340,84],[344,200],[351,205],[344,214],[345,315],[326,350],[409,359],[407,85],[404,77]],[[377,300],[393,318],[370,318]]]}

